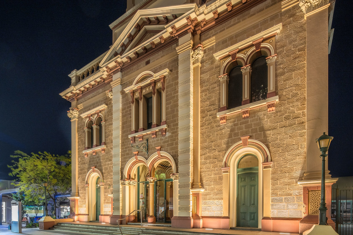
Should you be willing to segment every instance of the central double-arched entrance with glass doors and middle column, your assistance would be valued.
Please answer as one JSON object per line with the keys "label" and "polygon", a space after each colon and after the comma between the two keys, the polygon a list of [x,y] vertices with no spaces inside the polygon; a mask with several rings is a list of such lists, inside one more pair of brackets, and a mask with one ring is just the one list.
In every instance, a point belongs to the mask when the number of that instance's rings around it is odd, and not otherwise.
{"label": "central double-arched entrance with glass doors and middle column", "polygon": [[148,161],[142,156],[132,157],[124,168],[123,181],[134,181],[137,187],[133,185],[130,189],[129,183],[129,189],[124,190],[126,186],[122,182],[123,215],[139,208],[145,209],[142,214],[144,222],[155,223],[156,218],[157,222],[170,222],[175,205],[170,174],[175,171],[173,157],[164,151],[152,154]]}

